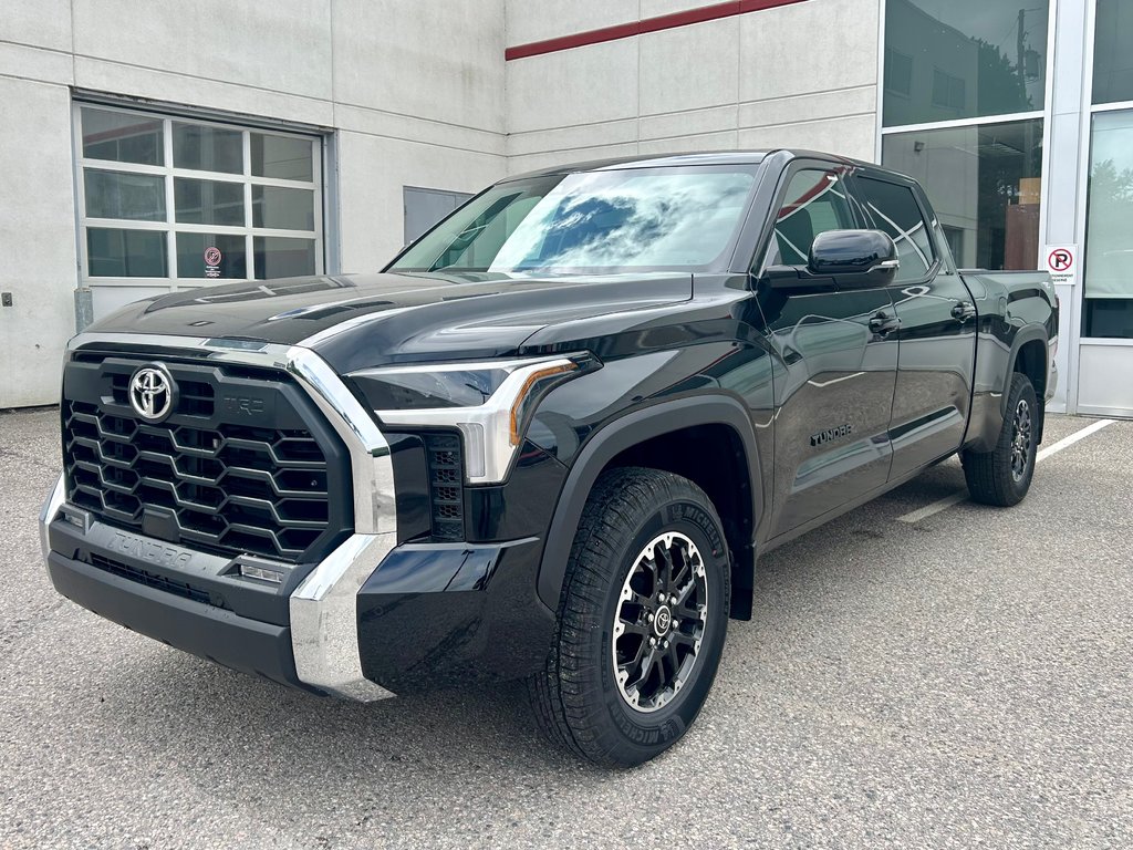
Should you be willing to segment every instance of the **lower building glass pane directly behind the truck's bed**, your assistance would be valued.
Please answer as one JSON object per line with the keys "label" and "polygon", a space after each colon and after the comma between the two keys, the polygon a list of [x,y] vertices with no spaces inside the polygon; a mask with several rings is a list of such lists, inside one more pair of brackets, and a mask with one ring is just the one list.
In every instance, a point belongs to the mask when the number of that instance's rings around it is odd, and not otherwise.
{"label": "lower building glass pane directly behind the truck's bed", "polygon": [[957,265],[1038,267],[1042,119],[886,134],[881,162],[925,187]]}

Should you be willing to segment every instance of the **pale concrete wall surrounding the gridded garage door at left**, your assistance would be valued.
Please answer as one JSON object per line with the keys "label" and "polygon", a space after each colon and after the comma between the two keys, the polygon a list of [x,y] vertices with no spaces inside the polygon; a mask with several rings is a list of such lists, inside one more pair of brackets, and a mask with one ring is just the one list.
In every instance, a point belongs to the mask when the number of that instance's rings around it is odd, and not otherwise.
{"label": "pale concrete wall surrounding the gridded garage door at left", "polygon": [[325,133],[330,271],[401,246],[401,187],[472,192],[505,171],[503,0],[146,3],[0,10],[0,408],[58,399],[74,333],[71,87]]}

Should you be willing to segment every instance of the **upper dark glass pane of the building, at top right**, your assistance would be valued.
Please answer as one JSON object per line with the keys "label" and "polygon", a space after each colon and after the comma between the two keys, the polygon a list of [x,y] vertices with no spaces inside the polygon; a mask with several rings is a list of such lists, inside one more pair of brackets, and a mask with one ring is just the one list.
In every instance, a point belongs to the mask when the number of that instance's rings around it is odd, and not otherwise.
{"label": "upper dark glass pane of the building, at top right", "polygon": [[885,126],[1041,110],[1048,5],[886,0]]}

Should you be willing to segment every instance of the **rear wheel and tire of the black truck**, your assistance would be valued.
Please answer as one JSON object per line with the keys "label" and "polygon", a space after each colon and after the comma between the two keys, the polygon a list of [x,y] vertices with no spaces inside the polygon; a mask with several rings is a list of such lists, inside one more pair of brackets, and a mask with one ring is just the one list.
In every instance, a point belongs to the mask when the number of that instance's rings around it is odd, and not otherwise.
{"label": "rear wheel and tire of the black truck", "polygon": [[1007,394],[1007,416],[988,452],[965,451],[961,456],[964,478],[972,501],[1007,508],[1019,504],[1031,487],[1034,476],[1034,453],[1038,449],[1036,428],[1041,411],[1034,388],[1026,375],[1016,372]]}

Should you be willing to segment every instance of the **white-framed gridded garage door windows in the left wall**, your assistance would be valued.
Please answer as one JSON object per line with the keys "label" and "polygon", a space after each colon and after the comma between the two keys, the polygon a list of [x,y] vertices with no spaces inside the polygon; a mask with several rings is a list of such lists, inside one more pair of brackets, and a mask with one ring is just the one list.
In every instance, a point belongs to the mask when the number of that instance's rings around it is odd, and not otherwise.
{"label": "white-framed gridded garage door windows in the left wall", "polygon": [[323,271],[320,139],[75,107],[84,284]]}

